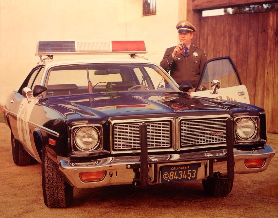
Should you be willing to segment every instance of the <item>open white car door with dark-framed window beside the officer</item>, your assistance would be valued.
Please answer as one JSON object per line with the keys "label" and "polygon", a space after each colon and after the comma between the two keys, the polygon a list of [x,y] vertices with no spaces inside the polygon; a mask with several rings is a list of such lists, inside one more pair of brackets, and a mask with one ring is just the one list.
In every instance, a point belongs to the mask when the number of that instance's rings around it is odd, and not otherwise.
{"label": "open white car door with dark-framed window beside the officer", "polygon": [[230,57],[208,60],[195,91],[190,95],[250,104],[247,88],[241,83]]}

